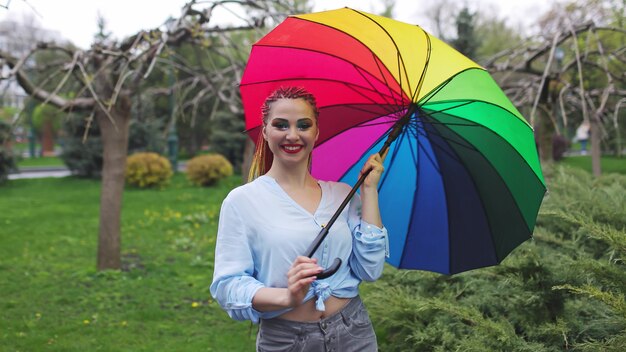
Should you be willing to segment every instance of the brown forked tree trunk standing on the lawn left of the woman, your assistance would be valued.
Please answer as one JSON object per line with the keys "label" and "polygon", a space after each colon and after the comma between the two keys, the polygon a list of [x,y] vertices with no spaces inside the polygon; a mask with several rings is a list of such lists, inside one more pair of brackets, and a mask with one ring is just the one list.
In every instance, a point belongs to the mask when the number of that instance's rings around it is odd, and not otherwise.
{"label": "brown forked tree trunk standing on the lawn left of the woman", "polygon": [[120,219],[128,151],[130,98],[120,96],[110,115],[115,125],[102,110],[96,111],[103,146],[98,270],[121,268]]}

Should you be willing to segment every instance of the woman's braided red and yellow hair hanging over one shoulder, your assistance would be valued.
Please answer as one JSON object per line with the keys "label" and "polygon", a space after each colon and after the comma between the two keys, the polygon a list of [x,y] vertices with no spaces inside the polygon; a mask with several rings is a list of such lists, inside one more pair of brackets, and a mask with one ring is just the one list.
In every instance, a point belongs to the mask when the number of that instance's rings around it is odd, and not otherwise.
{"label": "woman's braided red and yellow hair hanging over one shoulder", "polygon": [[[280,87],[273,91],[263,102],[261,106],[261,114],[263,118],[263,125],[261,128],[265,128],[267,125],[269,114],[272,108],[272,103],[279,99],[304,99],[311,108],[315,115],[315,124],[317,124],[317,118],[319,116],[319,110],[317,109],[317,102],[315,96],[303,87]],[[263,138],[263,132],[259,131],[257,137],[256,149],[254,150],[254,157],[250,165],[250,172],[248,173],[248,182],[253,181],[265,173],[272,167],[274,161],[274,154],[269,148],[267,141]],[[311,155],[309,155],[309,166],[311,165]]]}

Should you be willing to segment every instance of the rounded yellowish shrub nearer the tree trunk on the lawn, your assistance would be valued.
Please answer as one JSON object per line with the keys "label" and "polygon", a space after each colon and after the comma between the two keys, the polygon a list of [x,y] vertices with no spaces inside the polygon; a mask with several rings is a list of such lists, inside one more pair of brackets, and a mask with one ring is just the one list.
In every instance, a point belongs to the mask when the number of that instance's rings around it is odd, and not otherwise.
{"label": "rounded yellowish shrub nearer the tree trunk on the lawn", "polygon": [[135,153],[126,160],[126,182],[147,188],[163,187],[172,177],[170,161],[157,153]]}

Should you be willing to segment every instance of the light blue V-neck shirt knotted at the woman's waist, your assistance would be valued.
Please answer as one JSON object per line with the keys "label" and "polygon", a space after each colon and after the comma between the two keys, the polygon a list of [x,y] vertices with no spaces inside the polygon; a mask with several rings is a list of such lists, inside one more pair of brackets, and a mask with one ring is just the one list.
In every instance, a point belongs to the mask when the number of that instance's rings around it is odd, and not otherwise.
{"label": "light blue V-neck shirt knotted at the woman's waist", "polygon": [[[259,312],[252,298],[262,287],[287,287],[287,271],[330,220],[350,192],[344,183],[318,181],[322,199],[311,214],[269,176],[232,190],[220,211],[211,295],[236,320],[271,319],[289,309]],[[315,252],[317,263],[327,268],[341,258],[339,270],[316,280],[304,302],[317,297],[316,307],[332,296],[352,298],[361,281],[380,277],[388,256],[387,230],[361,220],[358,194],[331,227]]]}

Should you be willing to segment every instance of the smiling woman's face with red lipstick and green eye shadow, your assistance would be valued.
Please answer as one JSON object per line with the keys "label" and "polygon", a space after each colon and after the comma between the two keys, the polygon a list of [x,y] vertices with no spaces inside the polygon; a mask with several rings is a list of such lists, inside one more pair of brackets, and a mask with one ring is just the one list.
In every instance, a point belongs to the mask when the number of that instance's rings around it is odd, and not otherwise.
{"label": "smiling woman's face with red lipstick and green eye shadow", "polygon": [[304,99],[278,99],[270,106],[263,137],[284,163],[308,163],[319,136],[313,108]]}

